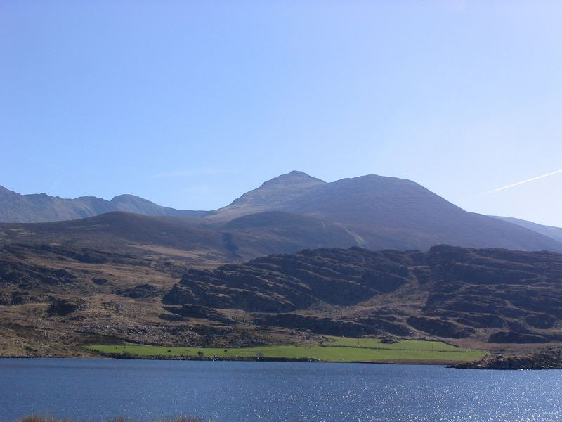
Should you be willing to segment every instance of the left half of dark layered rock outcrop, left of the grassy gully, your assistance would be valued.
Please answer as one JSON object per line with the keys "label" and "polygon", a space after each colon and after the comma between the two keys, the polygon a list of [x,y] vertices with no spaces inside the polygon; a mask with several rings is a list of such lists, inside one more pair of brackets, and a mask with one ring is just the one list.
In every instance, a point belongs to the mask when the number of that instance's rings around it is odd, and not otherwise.
{"label": "left half of dark layered rock outcrop, left of the grassy gully", "polygon": [[409,260],[405,252],[360,248],[274,255],[215,271],[190,270],[164,302],[249,312],[294,311],[319,301],[355,305],[406,283],[410,272],[403,261]]}

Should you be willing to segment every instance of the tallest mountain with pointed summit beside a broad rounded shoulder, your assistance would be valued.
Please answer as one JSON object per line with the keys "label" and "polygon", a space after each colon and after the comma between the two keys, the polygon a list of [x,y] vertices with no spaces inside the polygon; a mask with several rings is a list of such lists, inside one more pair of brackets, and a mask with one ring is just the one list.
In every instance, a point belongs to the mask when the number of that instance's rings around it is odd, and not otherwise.
{"label": "tallest mountain with pointed summit beside a broad rounded shoulder", "polygon": [[562,243],[515,224],[466,212],[419,184],[376,175],[325,183],[290,172],[204,216],[221,222],[254,212],[307,215],[344,227],[373,250],[427,250],[438,243],[472,248],[562,251]]}

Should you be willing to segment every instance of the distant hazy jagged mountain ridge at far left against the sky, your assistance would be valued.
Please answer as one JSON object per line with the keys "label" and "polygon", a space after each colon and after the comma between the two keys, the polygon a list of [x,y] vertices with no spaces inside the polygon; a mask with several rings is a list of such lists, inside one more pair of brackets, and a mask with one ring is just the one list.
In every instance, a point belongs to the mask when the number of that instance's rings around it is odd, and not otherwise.
{"label": "distant hazy jagged mountain ridge at far left against the sky", "polygon": [[133,195],[120,195],[112,200],[81,196],[64,199],[46,193],[20,195],[0,186],[0,222],[56,222],[93,217],[112,211],[135,212],[142,215],[198,217],[204,211],[174,210]]}

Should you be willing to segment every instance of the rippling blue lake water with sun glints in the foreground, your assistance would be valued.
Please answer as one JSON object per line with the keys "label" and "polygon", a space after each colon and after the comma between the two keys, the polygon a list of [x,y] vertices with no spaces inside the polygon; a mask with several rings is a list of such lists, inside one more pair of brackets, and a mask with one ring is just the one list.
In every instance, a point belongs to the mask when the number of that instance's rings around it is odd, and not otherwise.
{"label": "rippling blue lake water with sun glints in the foreground", "polygon": [[0,421],[562,421],[562,371],[443,366],[0,359]]}

